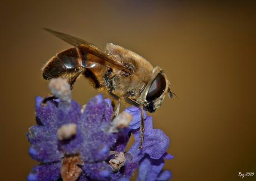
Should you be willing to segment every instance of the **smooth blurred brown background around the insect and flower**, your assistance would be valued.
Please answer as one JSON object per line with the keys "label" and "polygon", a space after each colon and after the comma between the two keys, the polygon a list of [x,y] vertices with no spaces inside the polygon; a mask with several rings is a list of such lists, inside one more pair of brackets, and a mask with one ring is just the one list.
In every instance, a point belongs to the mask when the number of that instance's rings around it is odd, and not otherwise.
{"label": "smooth blurred brown background around the insect and flower", "polygon": [[[150,115],[170,138],[171,180],[256,180],[255,1],[1,1],[0,10],[0,180],[26,180],[37,164],[25,133],[35,96],[49,93],[40,69],[70,47],[42,27],[119,44],[164,69],[179,99]],[[96,94],[83,79],[73,90],[81,104]]]}

